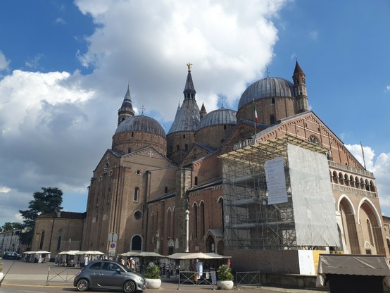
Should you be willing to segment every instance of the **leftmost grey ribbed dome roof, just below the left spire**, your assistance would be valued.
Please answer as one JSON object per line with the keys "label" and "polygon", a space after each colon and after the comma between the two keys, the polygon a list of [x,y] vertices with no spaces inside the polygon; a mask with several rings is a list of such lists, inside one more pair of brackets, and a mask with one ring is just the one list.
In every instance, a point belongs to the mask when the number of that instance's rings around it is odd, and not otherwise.
{"label": "leftmost grey ribbed dome roof, just below the left spire", "polygon": [[163,126],[148,116],[132,116],[123,120],[115,130],[115,135],[125,131],[146,131],[165,137]]}

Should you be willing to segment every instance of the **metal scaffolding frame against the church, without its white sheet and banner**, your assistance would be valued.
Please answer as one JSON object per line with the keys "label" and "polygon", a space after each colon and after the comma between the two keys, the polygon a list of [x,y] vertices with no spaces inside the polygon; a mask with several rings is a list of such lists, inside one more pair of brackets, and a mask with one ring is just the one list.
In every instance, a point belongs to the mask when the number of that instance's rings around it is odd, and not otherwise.
{"label": "metal scaffolding frame against the church, without its white sheet and banner", "polygon": [[[246,144],[221,156],[227,247],[262,250],[324,249],[338,243],[337,240],[331,240],[327,241],[331,242],[330,245],[316,247],[318,243],[325,242],[308,240],[312,235],[305,237],[304,240],[298,237],[297,241],[297,218],[294,216],[294,207],[297,209],[297,206],[294,206],[294,201],[300,202],[301,198],[291,193],[289,145],[299,146],[322,156],[327,151],[318,144],[284,135],[258,144]],[[283,159],[287,200],[278,204],[268,204],[265,162],[275,158]],[[330,182],[328,184],[330,186]],[[334,217],[334,211],[329,213],[333,213]],[[299,220],[305,219],[303,217]],[[334,225],[336,226],[335,220]],[[334,230],[334,226],[321,229],[325,229],[325,234],[329,234],[327,231]],[[334,237],[334,233],[331,234]]]}

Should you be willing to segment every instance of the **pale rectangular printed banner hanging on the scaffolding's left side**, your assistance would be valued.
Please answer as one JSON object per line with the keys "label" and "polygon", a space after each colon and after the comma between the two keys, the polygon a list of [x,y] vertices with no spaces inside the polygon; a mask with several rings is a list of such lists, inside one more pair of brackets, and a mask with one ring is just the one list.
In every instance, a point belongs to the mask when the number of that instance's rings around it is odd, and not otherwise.
{"label": "pale rectangular printed banner hanging on the scaffolding's left side", "polygon": [[286,178],[283,158],[265,161],[265,180],[267,180],[268,204],[287,202]]}

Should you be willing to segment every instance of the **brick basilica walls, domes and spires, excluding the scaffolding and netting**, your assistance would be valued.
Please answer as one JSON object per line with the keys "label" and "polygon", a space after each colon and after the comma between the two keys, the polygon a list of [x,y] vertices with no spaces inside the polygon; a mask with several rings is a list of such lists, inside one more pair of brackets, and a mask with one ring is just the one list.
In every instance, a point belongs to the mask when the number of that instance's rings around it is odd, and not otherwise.
{"label": "brick basilica walls, domes and spires, excluding the scaffolding and netting", "polygon": [[[134,115],[127,88],[118,111],[112,147],[103,154],[92,175],[86,213],[82,217],[73,213],[39,217],[32,250],[50,247],[52,255],[69,249],[111,255],[127,251],[169,255],[183,252],[188,237],[189,251],[229,255],[237,268],[247,270],[253,257],[267,261],[271,256],[289,254],[287,250],[316,249],[313,245],[298,245],[293,239],[289,249],[280,249],[280,243],[277,249],[266,248],[269,249],[266,256],[260,251],[260,240],[245,244],[246,247],[232,245],[244,233],[253,239],[253,235],[260,235],[259,231],[268,236],[270,232],[265,232],[265,220],[259,220],[260,216],[251,225],[245,220],[245,232],[239,230],[238,224],[232,225],[234,215],[229,206],[238,201],[229,199],[228,194],[234,192],[227,190],[229,180],[225,173],[229,173],[229,167],[224,160],[238,159],[244,152],[251,152],[256,158],[257,150],[267,152],[268,147],[275,151],[280,142],[315,151],[329,164],[327,184],[332,189],[334,229],[339,239],[320,249],[389,256],[389,225],[386,217],[382,217],[374,175],[309,110],[306,75],[298,62],[292,79],[293,82],[278,77],[258,80],[241,95],[237,111],[222,107],[207,113],[204,105],[199,110],[189,65],[184,99],[167,134],[153,118],[143,113]],[[240,163],[244,164],[244,170],[245,163],[242,160]],[[238,184],[230,186],[237,190],[244,188]],[[252,208],[258,208],[260,215],[267,196],[262,197],[259,205],[246,204],[246,211],[251,213]],[[189,211],[188,235],[186,211]],[[55,222],[59,224],[54,225]],[[274,224],[282,230],[282,225]],[[244,220],[241,226],[244,227]],[[284,232],[280,232],[280,239]],[[68,239],[72,241],[68,243]],[[270,247],[261,245],[263,250]],[[280,271],[280,268],[282,264],[277,269],[268,266],[268,270]],[[296,273],[292,267],[284,266],[282,270]]]}

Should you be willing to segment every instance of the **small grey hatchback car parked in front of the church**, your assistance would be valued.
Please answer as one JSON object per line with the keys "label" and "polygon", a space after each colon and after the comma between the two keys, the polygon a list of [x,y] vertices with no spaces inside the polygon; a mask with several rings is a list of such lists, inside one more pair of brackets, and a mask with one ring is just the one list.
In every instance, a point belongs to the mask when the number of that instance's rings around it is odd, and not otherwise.
{"label": "small grey hatchback car parked in front of the church", "polygon": [[130,293],[146,288],[141,274],[115,261],[91,261],[73,280],[73,286],[84,292],[88,289],[115,289]]}

